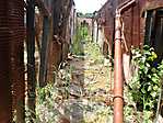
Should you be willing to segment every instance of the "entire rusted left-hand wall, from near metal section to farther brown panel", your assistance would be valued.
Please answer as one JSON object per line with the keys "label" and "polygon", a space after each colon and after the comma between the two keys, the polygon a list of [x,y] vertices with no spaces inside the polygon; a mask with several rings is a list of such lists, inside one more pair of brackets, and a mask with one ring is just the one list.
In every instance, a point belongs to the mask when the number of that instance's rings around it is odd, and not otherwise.
{"label": "entire rusted left-hand wall, from near metal section to farther brown panel", "polygon": [[[44,18],[43,41],[40,43],[42,65],[39,66],[43,70],[39,72],[43,75],[39,78],[44,83],[42,87],[49,80],[46,78],[50,74],[54,75],[59,64],[67,58],[70,43],[70,34],[68,33],[70,26],[68,24],[70,11],[74,4],[73,0],[58,0],[59,7],[55,2],[53,0],[26,0],[25,5],[23,0],[0,1],[0,122],[2,123],[12,122],[13,111],[16,112],[16,122],[25,123],[24,7],[27,12],[27,105],[32,111],[35,110],[36,87],[35,5],[38,5]],[[57,7],[59,11],[56,10]],[[55,21],[57,22],[55,23]],[[60,22],[61,24],[58,26]],[[35,114],[32,114],[32,118],[35,119]]]}

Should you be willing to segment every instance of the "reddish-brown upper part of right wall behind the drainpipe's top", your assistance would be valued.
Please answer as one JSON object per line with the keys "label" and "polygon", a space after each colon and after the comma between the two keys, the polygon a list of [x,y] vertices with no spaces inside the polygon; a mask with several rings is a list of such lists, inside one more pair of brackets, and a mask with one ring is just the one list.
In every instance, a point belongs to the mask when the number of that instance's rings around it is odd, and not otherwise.
{"label": "reddish-brown upper part of right wall behind the drainpipe's top", "polygon": [[[115,10],[125,1],[127,0],[108,0],[98,11],[97,19],[105,19],[102,26],[105,27],[105,36],[109,44],[113,41]],[[123,14],[125,40],[129,51],[131,45],[139,47],[143,44],[144,21],[142,12],[161,7],[163,7],[162,0],[138,0],[136,7]]]}

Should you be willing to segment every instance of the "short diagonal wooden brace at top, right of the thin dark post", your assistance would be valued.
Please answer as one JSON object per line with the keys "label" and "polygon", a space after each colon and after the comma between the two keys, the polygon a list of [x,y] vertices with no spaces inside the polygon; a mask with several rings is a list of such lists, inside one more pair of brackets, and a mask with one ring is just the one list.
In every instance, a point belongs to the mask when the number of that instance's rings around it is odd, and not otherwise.
{"label": "short diagonal wooden brace at top, right of the thin dark post", "polygon": [[42,0],[35,0],[36,5],[45,16],[50,16],[50,12]]}

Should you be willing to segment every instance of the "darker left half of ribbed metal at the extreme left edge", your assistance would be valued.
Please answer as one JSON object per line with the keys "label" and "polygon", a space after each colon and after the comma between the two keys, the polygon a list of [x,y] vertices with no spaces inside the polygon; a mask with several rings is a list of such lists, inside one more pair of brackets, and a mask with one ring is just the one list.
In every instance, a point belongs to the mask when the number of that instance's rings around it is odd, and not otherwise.
{"label": "darker left half of ribbed metal at the extreme left edge", "polygon": [[0,122],[11,121],[11,81],[10,81],[10,41],[11,34],[7,20],[8,1],[0,1]]}

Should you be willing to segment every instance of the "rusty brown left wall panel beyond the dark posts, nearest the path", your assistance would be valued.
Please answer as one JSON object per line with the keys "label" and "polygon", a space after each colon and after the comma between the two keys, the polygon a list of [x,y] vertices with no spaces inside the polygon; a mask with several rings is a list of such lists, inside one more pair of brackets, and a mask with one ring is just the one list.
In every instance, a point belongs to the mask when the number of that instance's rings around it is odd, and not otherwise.
{"label": "rusty brown left wall panel beyond the dark posts, nearest the path", "polygon": [[67,58],[69,52],[70,32],[68,33],[68,27],[70,26],[68,24],[73,0],[56,0],[53,5],[54,37],[49,45],[48,81],[54,81],[54,71]]}

